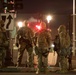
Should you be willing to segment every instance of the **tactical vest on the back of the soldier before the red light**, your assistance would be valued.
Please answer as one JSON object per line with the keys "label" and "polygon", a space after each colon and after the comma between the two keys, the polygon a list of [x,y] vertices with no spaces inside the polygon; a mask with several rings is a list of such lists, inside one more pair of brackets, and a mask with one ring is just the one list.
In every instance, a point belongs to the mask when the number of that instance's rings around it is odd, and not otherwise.
{"label": "tactical vest on the back of the soldier before the red light", "polygon": [[42,31],[40,31],[40,33],[38,33],[38,46],[40,48],[47,48],[47,47],[49,47],[48,38],[47,38],[48,34],[49,34],[48,30],[42,30]]}

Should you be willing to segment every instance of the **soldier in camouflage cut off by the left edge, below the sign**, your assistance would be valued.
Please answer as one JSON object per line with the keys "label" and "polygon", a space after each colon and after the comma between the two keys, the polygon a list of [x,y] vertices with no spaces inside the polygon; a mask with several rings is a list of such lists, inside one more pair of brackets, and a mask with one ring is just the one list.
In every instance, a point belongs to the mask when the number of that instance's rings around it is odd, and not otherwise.
{"label": "soldier in camouflage cut off by the left edge, below the sign", "polygon": [[4,67],[7,47],[8,40],[4,29],[4,21],[0,20],[0,67]]}

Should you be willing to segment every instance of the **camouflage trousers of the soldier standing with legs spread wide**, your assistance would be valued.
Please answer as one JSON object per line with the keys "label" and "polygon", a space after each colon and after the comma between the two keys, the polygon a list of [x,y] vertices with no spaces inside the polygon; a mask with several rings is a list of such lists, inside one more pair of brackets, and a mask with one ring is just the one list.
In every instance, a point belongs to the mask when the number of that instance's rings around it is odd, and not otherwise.
{"label": "camouflage trousers of the soldier standing with legs spread wide", "polygon": [[33,48],[32,47],[26,47],[25,45],[21,45],[19,50],[18,50],[18,58],[17,58],[17,66],[21,65],[22,62],[22,57],[23,57],[23,53],[24,51],[27,50],[28,52],[28,64],[30,67],[33,66]]}

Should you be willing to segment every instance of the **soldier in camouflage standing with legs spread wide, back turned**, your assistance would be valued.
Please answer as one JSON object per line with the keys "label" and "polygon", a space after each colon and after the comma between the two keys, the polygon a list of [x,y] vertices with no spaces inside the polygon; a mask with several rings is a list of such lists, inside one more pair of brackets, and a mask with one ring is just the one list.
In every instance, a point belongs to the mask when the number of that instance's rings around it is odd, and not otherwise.
{"label": "soldier in camouflage standing with legs spread wide, back turned", "polygon": [[26,49],[29,55],[29,66],[33,66],[33,58],[32,58],[32,38],[34,36],[33,31],[28,27],[28,22],[24,22],[24,27],[20,28],[17,32],[16,37],[16,46],[18,49],[18,59],[17,59],[17,67],[21,65],[22,57],[24,50]]}

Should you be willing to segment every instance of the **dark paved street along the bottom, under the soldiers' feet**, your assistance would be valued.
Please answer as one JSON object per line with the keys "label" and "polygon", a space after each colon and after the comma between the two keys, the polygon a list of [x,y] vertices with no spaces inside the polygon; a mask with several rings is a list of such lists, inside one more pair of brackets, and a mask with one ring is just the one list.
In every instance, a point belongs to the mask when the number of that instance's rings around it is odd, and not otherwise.
{"label": "dark paved street along the bottom, under the soldiers' feet", "polygon": [[[48,73],[41,72],[38,75],[76,75],[76,69],[68,71],[67,73],[59,73],[56,71],[56,67],[50,67]],[[8,67],[5,69],[1,69],[0,75],[36,75],[35,70],[33,68],[25,68],[25,67]]]}

